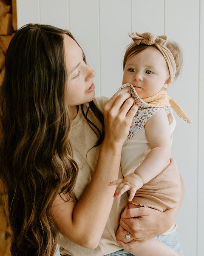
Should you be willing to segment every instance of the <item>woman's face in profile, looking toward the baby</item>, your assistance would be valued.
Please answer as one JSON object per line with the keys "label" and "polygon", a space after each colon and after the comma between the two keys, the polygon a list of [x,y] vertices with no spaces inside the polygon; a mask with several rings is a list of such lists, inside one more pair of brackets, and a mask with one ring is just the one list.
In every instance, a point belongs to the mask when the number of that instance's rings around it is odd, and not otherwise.
{"label": "woman's face in profile, looking toward the baby", "polygon": [[93,77],[96,72],[85,64],[82,49],[68,35],[64,35],[64,47],[67,72],[66,98],[74,118],[77,114],[77,105],[91,102],[94,99]]}

